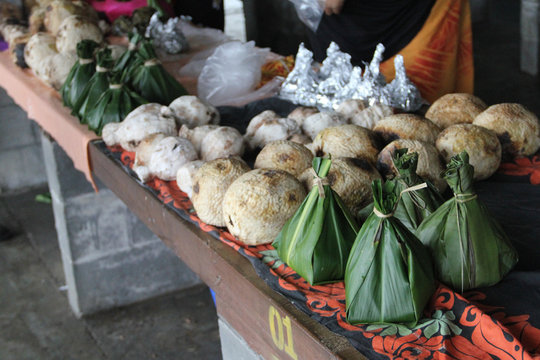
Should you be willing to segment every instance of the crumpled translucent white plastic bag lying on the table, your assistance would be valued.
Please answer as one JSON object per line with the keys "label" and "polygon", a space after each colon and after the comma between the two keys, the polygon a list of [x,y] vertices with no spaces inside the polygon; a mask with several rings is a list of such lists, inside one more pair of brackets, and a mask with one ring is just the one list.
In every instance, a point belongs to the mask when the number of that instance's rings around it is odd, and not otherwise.
{"label": "crumpled translucent white plastic bag lying on the table", "polygon": [[198,96],[220,106],[253,92],[261,80],[261,66],[269,51],[256,48],[253,41],[231,41],[218,46],[199,75]]}

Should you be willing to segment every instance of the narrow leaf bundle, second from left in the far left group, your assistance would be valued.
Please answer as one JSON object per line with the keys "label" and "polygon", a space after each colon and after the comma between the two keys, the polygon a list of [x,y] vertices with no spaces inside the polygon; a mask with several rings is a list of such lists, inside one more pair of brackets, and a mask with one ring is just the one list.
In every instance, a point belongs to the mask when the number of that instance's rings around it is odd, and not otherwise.
{"label": "narrow leaf bundle, second from left in the far left group", "polygon": [[96,54],[96,72],[84,87],[79,99],[73,105],[71,114],[86,124],[86,113],[95,108],[99,97],[109,88],[109,72],[113,66],[110,49],[101,49]]}

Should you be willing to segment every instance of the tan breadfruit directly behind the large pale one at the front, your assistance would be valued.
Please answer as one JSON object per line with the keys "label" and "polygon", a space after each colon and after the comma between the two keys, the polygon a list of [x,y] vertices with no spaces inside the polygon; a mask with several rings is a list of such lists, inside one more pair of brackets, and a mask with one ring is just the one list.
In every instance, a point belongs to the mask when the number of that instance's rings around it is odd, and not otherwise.
{"label": "tan breadfruit directly behind the large pale one at the front", "polygon": [[255,159],[255,169],[284,170],[298,177],[305,169],[311,168],[313,154],[302,144],[288,140],[272,141],[259,152]]}

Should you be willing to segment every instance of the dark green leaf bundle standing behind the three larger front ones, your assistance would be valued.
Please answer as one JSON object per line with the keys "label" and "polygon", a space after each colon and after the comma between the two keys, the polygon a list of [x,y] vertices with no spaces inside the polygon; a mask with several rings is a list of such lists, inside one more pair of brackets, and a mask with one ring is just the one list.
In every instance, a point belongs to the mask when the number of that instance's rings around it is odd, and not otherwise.
{"label": "dark green leaf bundle standing behind the three larger front ones", "polygon": [[[444,203],[444,198],[430,181],[416,174],[418,153],[407,154],[407,149],[398,149],[394,152],[392,160],[398,176],[389,181],[395,182],[396,194],[412,186],[426,183],[425,188],[403,193],[394,212],[394,217],[414,233],[420,223]],[[359,218],[367,219],[372,211],[373,203],[360,211]]]}

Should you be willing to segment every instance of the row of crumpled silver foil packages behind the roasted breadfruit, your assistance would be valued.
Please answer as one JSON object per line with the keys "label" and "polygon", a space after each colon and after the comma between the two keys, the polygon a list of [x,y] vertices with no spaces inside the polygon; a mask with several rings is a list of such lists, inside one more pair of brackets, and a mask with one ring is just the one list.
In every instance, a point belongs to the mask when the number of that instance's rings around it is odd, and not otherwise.
{"label": "row of crumpled silver foil packages behind the roasted breadfruit", "polygon": [[348,99],[362,99],[370,105],[381,103],[404,111],[416,111],[424,100],[405,72],[403,57],[396,56],[396,78],[388,84],[380,72],[384,46],[378,44],[371,62],[352,67],[351,57],[335,43],[327,49],[327,58],[317,71],[313,54],[303,44],[296,55],[296,65],[283,82],[280,97],[304,106],[335,110]]}

